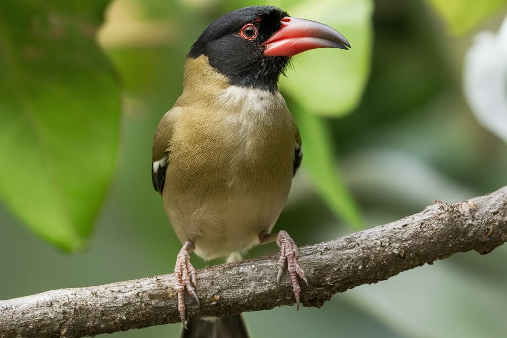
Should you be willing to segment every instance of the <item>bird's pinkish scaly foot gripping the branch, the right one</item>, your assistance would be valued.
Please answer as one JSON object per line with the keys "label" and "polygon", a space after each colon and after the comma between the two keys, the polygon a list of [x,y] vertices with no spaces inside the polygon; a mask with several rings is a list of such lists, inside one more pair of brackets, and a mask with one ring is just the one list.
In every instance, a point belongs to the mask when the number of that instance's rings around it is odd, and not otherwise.
{"label": "bird's pinkish scaly foot gripping the branch, the right one", "polygon": [[280,283],[280,278],[285,271],[285,262],[287,263],[287,272],[292,282],[292,290],[294,297],[296,298],[296,310],[299,309],[299,294],[301,293],[301,287],[299,286],[298,277],[305,281],[308,285],[308,280],[305,277],[305,272],[299,266],[298,262],[298,247],[294,243],[291,236],[286,231],[281,230],[278,232],[276,238],[276,245],[280,247],[280,259],[276,265],[278,266],[278,276],[276,281]]}

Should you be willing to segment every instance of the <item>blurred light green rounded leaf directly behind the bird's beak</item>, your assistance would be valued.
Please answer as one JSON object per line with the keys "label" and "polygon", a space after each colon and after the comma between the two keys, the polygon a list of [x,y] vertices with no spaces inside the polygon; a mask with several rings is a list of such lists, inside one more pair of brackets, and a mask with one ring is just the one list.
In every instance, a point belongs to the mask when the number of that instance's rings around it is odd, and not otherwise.
{"label": "blurred light green rounded leaf directly behind the bird's beak", "polygon": [[304,1],[287,11],[337,29],[352,48],[321,48],[296,56],[287,78],[280,82],[281,89],[311,114],[347,114],[359,104],[370,73],[373,2]]}

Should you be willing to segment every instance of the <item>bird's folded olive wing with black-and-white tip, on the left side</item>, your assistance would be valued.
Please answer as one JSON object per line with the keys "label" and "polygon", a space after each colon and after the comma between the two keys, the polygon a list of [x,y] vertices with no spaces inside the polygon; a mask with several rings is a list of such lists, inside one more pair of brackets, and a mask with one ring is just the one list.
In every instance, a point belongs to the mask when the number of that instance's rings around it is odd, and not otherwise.
{"label": "bird's folded olive wing with black-and-white tip, on the left side", "polygon": [[169,143],[171,141],[173,125],[179,114],[179,107],[174,107],[162,117],[155,132],[152,150],[152,181],[155,190],[162,194],[164,190],[165,172],[169,165]]}

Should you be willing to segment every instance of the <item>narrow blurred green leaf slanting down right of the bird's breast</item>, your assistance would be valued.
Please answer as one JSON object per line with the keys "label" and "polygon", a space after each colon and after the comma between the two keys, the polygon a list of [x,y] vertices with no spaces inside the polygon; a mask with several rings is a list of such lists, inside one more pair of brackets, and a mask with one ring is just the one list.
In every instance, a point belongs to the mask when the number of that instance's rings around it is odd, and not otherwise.
{"label": "narrow blurred green leaf slanting down right of the bird's breast", "polygon": [[333,139],[326,120],[291,105],[303,143],[303,166],[317,192],[353,230],[363,228],[363,219],[352,196],[341,180],[335,160]]}

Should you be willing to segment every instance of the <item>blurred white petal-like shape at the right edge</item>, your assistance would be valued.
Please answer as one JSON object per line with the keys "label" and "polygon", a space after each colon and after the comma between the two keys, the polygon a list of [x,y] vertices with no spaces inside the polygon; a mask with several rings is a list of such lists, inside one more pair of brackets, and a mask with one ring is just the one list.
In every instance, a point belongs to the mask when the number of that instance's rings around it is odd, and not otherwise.
{"label": "blurred white petal-like shape at the right edge", "polygon": [[498,34],[476,37],[465,58],[463,83],[476,118],[507,141],[507,17]]}

